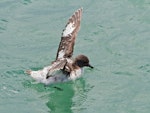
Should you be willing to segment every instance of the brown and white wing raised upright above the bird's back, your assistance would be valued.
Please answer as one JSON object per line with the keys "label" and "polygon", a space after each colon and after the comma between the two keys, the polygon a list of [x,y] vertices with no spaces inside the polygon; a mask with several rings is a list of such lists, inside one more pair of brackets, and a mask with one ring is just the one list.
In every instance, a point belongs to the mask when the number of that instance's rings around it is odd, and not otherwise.
{"label": "brown and white wing raised upright above the bird's back", "polygon": [[61,36],[56,60],[60,58],[72,57],[75,39],[80,29],[81,16],[82,8],[78,9],[68,20],[68,23]]}

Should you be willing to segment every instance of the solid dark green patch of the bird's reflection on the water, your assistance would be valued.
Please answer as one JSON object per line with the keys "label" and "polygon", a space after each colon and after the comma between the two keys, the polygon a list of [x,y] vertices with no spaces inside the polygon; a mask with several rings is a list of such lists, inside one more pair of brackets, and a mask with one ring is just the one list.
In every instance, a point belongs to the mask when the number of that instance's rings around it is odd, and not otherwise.
{"label": "solid dark green patch of the bird's reflection on the water", "polygon": [[[68,86],[67,86],[68,85]],[[72,98],[74,90],[72,84],[65,84],[63,91],[55,90],[49,95],[49,101],[46,105],[49,107],[51,113],[71,113]]]}

